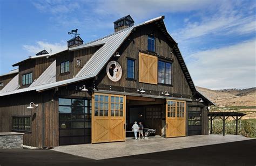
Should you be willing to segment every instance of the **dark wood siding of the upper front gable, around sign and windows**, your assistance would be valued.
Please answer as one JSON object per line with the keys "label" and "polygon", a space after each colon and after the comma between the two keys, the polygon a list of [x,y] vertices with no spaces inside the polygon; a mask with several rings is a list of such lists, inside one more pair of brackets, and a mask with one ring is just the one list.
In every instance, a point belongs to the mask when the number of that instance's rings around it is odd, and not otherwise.
{"label": "dark wood siding of the upper front gable, around sign and windows", "polygon": [[[138,67],[139,67],[139,52],[140,50],[147,50],[147,36],[153,34],[156,37],[156,53],[160,56],[173,59],[172,63],[172,85],[153,85],[138,82]],[[123,75],[120,81],[112,82],[106,75],[106,68],[102,70],[99,75],[99,85],[114,85],[126,88],[140,88],[154,91],[169,91],[171,93],[180,93],[184,95],[191,95],[192,91],[188,86],[186,78],[181,70],[180,64],[176,56],[171,54],[172,45],[166,39],[163,33],[158,31],[157,27],[153,25],[143,26],[133,31],[129,39],[126,39],[124,44],[118,49],[121,55],[118,59],[113,57],[112,60],[117,60],[122,66]],[[135,60],[135,81],[126,80],[126,59],[130,57]]]}

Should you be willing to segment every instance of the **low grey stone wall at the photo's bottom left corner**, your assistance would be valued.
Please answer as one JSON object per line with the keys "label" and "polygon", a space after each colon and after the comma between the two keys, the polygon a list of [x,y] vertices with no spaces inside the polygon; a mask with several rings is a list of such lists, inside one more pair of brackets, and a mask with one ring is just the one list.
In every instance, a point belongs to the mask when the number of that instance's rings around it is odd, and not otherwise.
{"label": "low grey stone wall at the photo's bottom left corner", "polygon": [[0,133],[0,149],[22,149],[24,133]]}

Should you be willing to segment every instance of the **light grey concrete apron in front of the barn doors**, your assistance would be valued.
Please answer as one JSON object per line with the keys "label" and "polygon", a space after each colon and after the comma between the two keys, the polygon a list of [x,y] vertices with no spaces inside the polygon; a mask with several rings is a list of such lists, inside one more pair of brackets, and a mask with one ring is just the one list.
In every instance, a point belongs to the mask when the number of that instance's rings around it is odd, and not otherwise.
{"label": "light grey concrete apron in front of the barn doors", "polygon": [[114,157],[139,155],[158,151],[183,149],[244,140],[250,140],[250,138],[246,138],[241,135],[196,135],[168,139],[155,136],[149,137],[148,139],[127,139],[126,142],[59,146],[52,150],[95,160],[102,160]]}

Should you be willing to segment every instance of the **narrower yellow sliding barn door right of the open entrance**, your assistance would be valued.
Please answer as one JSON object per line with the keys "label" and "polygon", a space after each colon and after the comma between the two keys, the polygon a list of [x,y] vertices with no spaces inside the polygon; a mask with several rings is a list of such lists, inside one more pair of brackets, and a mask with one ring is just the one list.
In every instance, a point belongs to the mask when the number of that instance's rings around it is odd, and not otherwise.
{"label": "narrower yellow sliding barn door right of the open entrance", "polygon": [[166,100],[166,138],[186,136],[186,102]]}

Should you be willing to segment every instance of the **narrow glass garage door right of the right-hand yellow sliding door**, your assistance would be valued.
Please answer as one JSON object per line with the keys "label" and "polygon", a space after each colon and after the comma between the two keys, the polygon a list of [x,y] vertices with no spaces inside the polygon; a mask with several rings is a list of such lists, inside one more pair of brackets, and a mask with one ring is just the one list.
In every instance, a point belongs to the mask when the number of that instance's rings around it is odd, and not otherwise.
{"label": "narrow glass garage door right of the right-hand yellow sliding door", "polygon": [[188,135],[202,134],[202,109],[197,106],[188,106]]}

